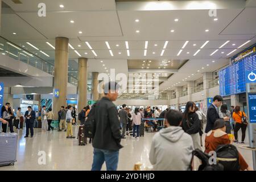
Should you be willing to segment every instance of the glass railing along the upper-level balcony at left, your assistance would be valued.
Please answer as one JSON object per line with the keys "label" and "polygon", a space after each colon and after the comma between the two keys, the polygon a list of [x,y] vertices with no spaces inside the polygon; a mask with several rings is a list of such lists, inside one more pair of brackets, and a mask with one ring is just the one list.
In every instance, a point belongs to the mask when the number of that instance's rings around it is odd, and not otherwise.
{"label": "glass railing along the upper-level balcony at left", "polygon": [[[22,61],[23,63],[29,64],[32,67],[38,68],[49,75],[54,74],[54,65],[46,62],[34,53],[27,51],[26,49],[17,46],[16,44],[6,40],[0,36],[0,53],[2,55],[9,56],[15,60]],[[68,82],[72,85],[77,86],[77,79],[68,76]]]}

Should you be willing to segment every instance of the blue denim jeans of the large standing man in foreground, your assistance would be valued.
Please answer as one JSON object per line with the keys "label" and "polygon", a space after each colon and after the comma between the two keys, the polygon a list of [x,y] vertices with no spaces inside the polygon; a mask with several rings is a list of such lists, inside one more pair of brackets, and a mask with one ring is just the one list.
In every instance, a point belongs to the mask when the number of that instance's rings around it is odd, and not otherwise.
{"label": "blue denim jeans of the large standing man in foreground", "polygon": [[100,171],[102,164],[106,162],[107,171],[117,171],[119,150],[102,150],[94,148],[92,171]]}

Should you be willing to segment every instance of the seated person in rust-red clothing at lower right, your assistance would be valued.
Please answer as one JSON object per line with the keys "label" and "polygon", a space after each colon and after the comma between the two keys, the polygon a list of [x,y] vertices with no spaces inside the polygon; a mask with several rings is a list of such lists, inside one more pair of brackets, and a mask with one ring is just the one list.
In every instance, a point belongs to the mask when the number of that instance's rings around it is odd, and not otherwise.
{"label": "seated person in rust-red clothing at lower right", "polygon": [[[234,137],[231,138],[229,135],[225,132],[226,131],[226,124],[224,119],[217,119],[214,122],[213,130],[210,130],[207,135],[205,136],[205,152],[209,153],[210,151],[216,151],[218,146],[222,144],[232,144],[234,141]],[[218,151],[217,151],[218,152]],[[228,151],[227,151],[228,152]],[[227,155],[226,155],[227,156]],[[218,157],[218,154],[217,154]],[[245,159],[243,159],[243,156],[238,152],[238,161],[240,170],[253,170],[251,167],[248,166],[248,164],[245,162]],[[236,166],[233,166],[236,168]]]}

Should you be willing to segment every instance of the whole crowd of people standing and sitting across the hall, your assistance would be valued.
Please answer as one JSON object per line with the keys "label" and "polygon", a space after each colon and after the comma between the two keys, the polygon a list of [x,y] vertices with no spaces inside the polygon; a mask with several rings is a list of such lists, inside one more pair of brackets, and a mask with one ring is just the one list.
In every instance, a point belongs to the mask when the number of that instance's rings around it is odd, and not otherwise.
{"label": "whole crowd of people standing and sitting across the hall", "polygon": [[[101,100],[92,107],[89,105],[84,107],[79,113],[81,125],[88,120],[93,123],[93,140],[90,138],[89,141],[94,148],[92,170],[100,170],[104,162],[107,170],[116,170],[119,150],[123,147],[121,139],[125,139],[126,135],[130,134],[133,135],[131,139],[138,139],[140,127],[146,125],[152,127],[156,132],[152,138],[149,154],[154,170],[187,170],[193,165],[191,163],[193,150],[203,150],[204,144],[204,152],[209,153],[216,150],[220,144],[238,142],[238,130],[240,129],[242,130],[241,143],[244,143],[247,116],[241,111],[240,106],[232,106],[232,110],[229,111],[227,105],[222,103],[221,96],[213,98],[206,115],[192,101],[187,102],[183,113],[168,108],[163,111],[158,107],[151,109],[151,106],[145,109],[136,107],[131,110],[125,104],[122,105],[122,108],[116,109],[113,101],[117,100],[119,85],[116,82],[109,82],[104,87],[115,88],[115,90],[104,89],[105,95]],[[1,112],[0,122],[3,125],[3,132],[7,131],[6,123],[9,123],[10,132],[14,132],[12,125],[14,113],[10,104],[6,103]],[[72,124],[76,122],[75,112],[71,105],[61,106],[58,112],[58,131],[65,131],[67,139],[75,138],[72,130]],[[52,109],[46,110],[46,106],[42,106],[39,116],[42,118],[42,131],[53,130],[51,126],[54,117]],[[21,117],[22,114],[18,108],[16,123]],[[28,137],[29,129],[31,137],[33,137],[36,113],[31,106],[28,106],[24,117],[26,118],[25,137]],[[16,123],[15,126],[19,128]],[[205,142],[202,140],[204,124],[206,124]],[[232,130],[234,137],[230,137]],[[85,138],[85,144],[87,144],[87,138]],[[251,170],[240,153],[239,163],[241,170]]]}

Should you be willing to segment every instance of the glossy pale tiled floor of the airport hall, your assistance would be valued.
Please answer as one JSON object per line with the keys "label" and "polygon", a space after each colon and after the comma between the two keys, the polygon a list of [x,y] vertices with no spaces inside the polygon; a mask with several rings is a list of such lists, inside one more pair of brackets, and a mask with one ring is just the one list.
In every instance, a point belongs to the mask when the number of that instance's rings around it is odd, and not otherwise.
{"label": "glossy pale tiled floor of the airport hall", "polygon": [[[73,127],[73,131],[77,134],[77,127]],[[42,132],[35,129],[34,138],[24,138],[24,130],[17,132],[17,162],[14,166],[0,167],[1,170],[90,170],[93,159],[92,144],[78,146],[77,139],[66,139],[64,131]],[[123,139],[124,147],[119,152],[118,170],[132,170],[137,162],[142,162],[144,167],[151,166],[148,153],[153,135],[154,133],[145,133],[139,140],[132,140],[130,137]],[[241,133],[239,135],[241,137]],[[247,140],[246,136],[246,142]],[[238,150],[252,167],[251,151],[239,147]],[[38,164],[39,151],[46,152],[45,165]],[[104,164],[102,170],[105,169]]]}

